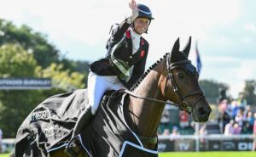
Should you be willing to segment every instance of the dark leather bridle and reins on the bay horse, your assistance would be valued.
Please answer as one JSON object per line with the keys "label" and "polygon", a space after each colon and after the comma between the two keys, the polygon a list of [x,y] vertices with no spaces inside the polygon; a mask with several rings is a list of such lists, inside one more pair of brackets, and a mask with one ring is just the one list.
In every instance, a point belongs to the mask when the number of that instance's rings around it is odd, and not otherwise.
{"label": "dark leather bridle and reins on the bay horse", "polygon": [[[167,55],[170,55],[170,54],[168,53]],[[174,78],[172,76],[172,70],[176,69],[176,68],[182,68],[182,69],[185,70],[186,69],[184,67],[185,64],[189,64],[190,65],[191,61],[190,60],[182,60],[182,61],[178,61],[178,62],[175,62],[175,63],[171,64],[170,61],[169,61],[169,56],[166,56],[167,76],[166,76],[166,85],[165,85],[165,91],[164,92],[166,93],[166,89],[168,87],[168,81],[171,81],[172,87],[173,87],[173,92],[175,94],[177,94],[177,98],[179,99],[178,103],[176,103],[176,104],[172,104],[169,101],[163,101],[163,100],[156,99],[156,98],[143,97],[143,96],[137,95],[135,93],[132,93],[131,91],[129,91],[127,89],[125,89],[125,93],[130,94],[134,98],[141,98],[141,99],[144,99],[144,100],[153,101],[155,103],[160,103],[160,104],[171,104],[171,105],[177,106],[179,109],[184,110],[189,115],[191,115],[192,112],[193,112],[193,109],[195,108],[195,105],[201,100],[201,98],[205,98],[205,97],[204,97],[203,92],[201,91],[201,89],[193,91],[193,92],[189,92],[189,93],[186,93],[186,94],[183,94],[183,95],[181,95],[179,93],[179,90],[178,90],[178,87],[177,87],[177,83],[175,82],[175,80],[174,80]],[[195,75],[195,73],[196,73],[196,70],[193,71],[191,73],[191,75]],[[193,96],[193,95],[199,95],[199,97],[197,98],[197,100],[195,101],[194,104],[189,106],[189,103],[186,102],[184,100],[184,98],[188,98],[188,97]]]}

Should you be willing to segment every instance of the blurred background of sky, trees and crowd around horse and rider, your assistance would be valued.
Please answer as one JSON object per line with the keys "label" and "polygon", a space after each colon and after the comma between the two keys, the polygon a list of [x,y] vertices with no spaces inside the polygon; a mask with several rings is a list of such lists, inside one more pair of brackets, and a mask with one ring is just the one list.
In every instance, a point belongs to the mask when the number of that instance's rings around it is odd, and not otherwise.
{"label": "blurred background of sky, trees and crowd around horse and rider", "polygon": [[[104,57],[110,26],[130,13],[128,3],[0,0],[0,151],[12,149],[18,127],[45,98],[86,87],[88,64]],[[150,45],[147,66],[170,52],[177,37],[183,48],[192,36],[189,59],[200,70],[200,86],[212,106],[205,124],[195,124],[190,115],[166,106],[160,151],[251,150],[256,2],[137,3],[148,5],[155,19],[144,35]]]}

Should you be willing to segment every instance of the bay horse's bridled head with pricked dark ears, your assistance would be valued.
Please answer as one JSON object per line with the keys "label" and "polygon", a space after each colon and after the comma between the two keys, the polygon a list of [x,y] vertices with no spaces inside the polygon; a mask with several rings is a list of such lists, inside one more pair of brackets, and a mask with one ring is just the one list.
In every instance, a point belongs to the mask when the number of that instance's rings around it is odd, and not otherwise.
{"label": "bay horse's bridled head with pricked dark ears", "polygon": [[183,51],[179,51],[177,39],[172,52],[166,57],[167,79],[162,87],[166,98],[192,115],[194,121],[206,122],[212,109],[199,87],[195,66],[188,59],[190,45],[191,37]]}

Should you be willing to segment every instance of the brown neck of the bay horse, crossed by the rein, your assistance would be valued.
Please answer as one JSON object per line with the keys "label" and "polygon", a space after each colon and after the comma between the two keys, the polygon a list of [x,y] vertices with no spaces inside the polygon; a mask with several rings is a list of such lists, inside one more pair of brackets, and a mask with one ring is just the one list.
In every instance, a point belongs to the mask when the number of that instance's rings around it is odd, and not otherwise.
{"label": "brown neck of the bay horse, crossed by the rein", "polygon": [[[160,84],[166,79],[162,73],[166,68],[166,61],[162,60],[143,79],[133,91],[136,95],[163,100]],[[131,96],[130,118],[132,130],[143,137],[155,137],[165,104],[155,103]]]}

